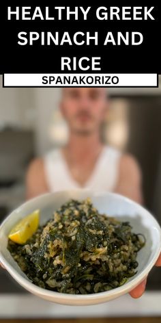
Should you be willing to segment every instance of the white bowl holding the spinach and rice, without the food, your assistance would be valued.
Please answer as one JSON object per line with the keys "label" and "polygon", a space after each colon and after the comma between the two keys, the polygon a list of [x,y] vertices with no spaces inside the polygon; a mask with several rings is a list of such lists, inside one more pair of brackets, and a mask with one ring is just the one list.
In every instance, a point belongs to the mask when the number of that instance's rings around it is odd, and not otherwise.
{"label": "white bowl holding the spinach and rice, without the food", "polygon": [[[27,276],[20,270],[7,249],[8,233],[14,224],[21,218],[27,216],[35,209],[40,209],[40,224],[48,220],[55,209],[60,207],[70,198],[83,199],[90,197],[93,204],[100,212],[115,216],[120,220],[130,221],[134,233],[143,233],[146,244],[138,253],[138,272],[124,285],[111,289],[108,292],[88,295],[72,295],[52,292],[31,283]],[[93,305],[100,302],[113,300],[123,294],[130,292],[136,285],[141,283],[151,268],[156,263],[161,251],[161,229],[155,218],[143,207],[118,194],[107,192],[92,192],[89,190],[73,190],[45,194],[33,198],[31,201],[18,207],[5,219],[0,227],[0,261],[11,276],[29,292],[64,305]]]}

